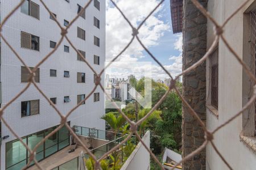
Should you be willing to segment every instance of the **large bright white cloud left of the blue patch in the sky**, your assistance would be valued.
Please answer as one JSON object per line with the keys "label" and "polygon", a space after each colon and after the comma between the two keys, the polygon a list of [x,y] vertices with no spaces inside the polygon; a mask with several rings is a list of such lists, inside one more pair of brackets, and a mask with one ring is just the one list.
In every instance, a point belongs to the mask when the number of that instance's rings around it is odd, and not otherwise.
{"label": "large bright white cloud left of the blue patch in the sky", "polygon": [[[159,0],[116,0],[118,7],[130,20],[134,27],[142,22],[144,18],[158,5]],[[139,37],[143,44],[148,48],[153,45],[158,45],[158,40],[163,36],[163,32],[168,30],[170,26],[159,19],[158,12],[162,7],[159,7],[156,12],[147,19],[141,29],[139,29]],[[106,60],[110,61],[117,56],[119,52],[131,40],[132,30],[130,25],[122,17],[120,12],[110,1],[107,1],[106,9]],[[121,61],[130,61],[134,58],[143,57],[143,48],[137,40],[129,46],[125,53],[118,58]]]}

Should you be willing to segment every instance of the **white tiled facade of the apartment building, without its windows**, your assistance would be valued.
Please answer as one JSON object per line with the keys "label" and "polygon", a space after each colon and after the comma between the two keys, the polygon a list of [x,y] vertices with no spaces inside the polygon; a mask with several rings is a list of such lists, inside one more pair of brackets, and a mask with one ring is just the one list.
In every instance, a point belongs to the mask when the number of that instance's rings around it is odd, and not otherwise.
{"label": "white tiled facade of the apartment building, without its windows", "polygon": [[[57,20],[64,27],[64,19],[69,22],[77,15],[77,4],[85,6],[89,0],[71,0],[69,3],[65,0],[44,0],[49,10],[57,15]],[[1,20],[9,14],[13,8],[18,5],[20,0],[2,0],[1,1]],[[58,42],[60,40],[60,28],[49,19],[49,13],[39,0],[33,0],[40,6],[40,19],[23,14],[18,9],[7,20],[3,27],[2,34],[16,52],[23,58],[28,66],[34,67],[36,63],[42,60],[52,48],[49,48],[49,41]],[[100,29],[93,25],[93,17],[100,20]],[[77,27],[86,31],[85,41],[77,37]],[[40,37],[40,51],[20,48],[20,32],[24,31]],[[93,68],[100,73],[105,62],[105,1],[100,0],[100,11],[93,6],[93,2],[86,9],[86,18],[79,17],[68,30],[68,38],[77,49],[86,52],[86,60]],[[100,38],[100,47],[93,44],[93,37]],[[64,45],[69,46],[69,53],[64,52]],[[100,56],[100,65],[93,63],[93,56]],[[1,84],[2,84],[2,103],[1,106],[13,99],[19,91],[26,87],[26,83],[20,83],[20,67],[22,63],[9,49],[3,40],[1,40]],[[63,114],[67,114],[77,104],[77,95],[88,95],[93,90],[94,74],[85,62],[77,61],[77,53],[63,40],[59,48],[51,57],[49,57],[40,68],[40,83],[38,86],[47,95],[47,97],[57,97],[56,107]],[[49,76],[49,70],[57,70],[57,77]],[[64,78],[64,70],[69,71],[70,77]],[[77,72],[85,73],[85,83],[77,83]],[[104,78],[104,76],[102,76]],[[102,80],[102,83],[104,81]],[[100,119],[105,114],[104,94],[100,87],[96,92],[100,92],[100,101],[94,102],[93,95],[86,100],[84,105],[76,109],[68,121],[71,126],[86,126],[105,130],[105,122]],[[64,103],[64,96],[69,96],[70,103]],[[40,114],[34,116],[21,117],[21,101],[40,100]],[[50,128],[60,124],[60,117],[57,112],[49,105],[46,99],[31,85],[24,94],[14,101],[4,112],[7,124],[19,135],[36,133],[37,131]],[[2,137],[10,137],[2,140],[1,145],[1,169],[5,169],[5,143],[13,141],[14,135],[2,123]]]}

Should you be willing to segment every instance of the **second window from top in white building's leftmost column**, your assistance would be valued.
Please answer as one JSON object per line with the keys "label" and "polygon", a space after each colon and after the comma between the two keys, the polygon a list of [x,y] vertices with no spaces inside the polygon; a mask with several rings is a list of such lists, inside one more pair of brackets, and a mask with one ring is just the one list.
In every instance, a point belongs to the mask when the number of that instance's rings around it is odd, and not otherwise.
{"label": "second window from top in white building's leftmost column", "polygon": [[39,37],[22,31],[21,47],[39,51]]}

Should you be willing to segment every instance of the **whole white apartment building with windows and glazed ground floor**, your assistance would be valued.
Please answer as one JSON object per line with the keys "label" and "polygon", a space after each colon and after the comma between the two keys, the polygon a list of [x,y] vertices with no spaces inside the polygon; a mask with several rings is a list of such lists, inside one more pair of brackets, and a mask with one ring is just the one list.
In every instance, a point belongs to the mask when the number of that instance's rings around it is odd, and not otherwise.
{"label": "whole white apartment building with windows and glazed ground floor", "polygon": [[[71,22],[89,0],[44,0],[56,16],[61,27]],[[18,5],[20,0],[0,1],[1,20]],[[60,40],[60,28],[39,0],[26,0],[14,12],[2,29],[2,35],[30,67],[40,62]],[[68,38],[85,56],[92,67],[100,73],[105,62],[105,1],[94,0],[79,16],[71,28]],[[27,71],[22,63],[1,40],[1,106],[15,97],[27,82]],[[104,83],[104,76],[102,76]],[[63,40],[36,73],[39,88],[56,103],[63,114],[67,114],[94,87],[94,73],[77,56],[76,51]],[[105,130],[104,93],[98,87],[71,116],[71,126],[86,126]],[[60,124],[60,117],[46,99],[31,85],[3,114],[7,124],[31,148]],[[2,124],[1,169],[20,169],[26,165],[28,152]],[[36,159],[42,160],[69,145],[69,135],[62,128],[37,150]]]}

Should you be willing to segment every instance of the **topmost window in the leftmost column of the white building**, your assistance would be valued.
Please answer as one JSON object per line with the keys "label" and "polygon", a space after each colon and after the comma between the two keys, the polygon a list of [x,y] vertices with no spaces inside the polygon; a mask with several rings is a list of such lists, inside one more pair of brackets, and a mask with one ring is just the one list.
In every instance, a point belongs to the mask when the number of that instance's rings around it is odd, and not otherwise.
{"label": "topmost window in the leftmost column of the white building", "polygon": [[36,19],[39,19],[39,5],[37,5],[35,2],[26,0],[20,7],[20,11],[23,14],[27,14],[30,16],[33,16]]}

